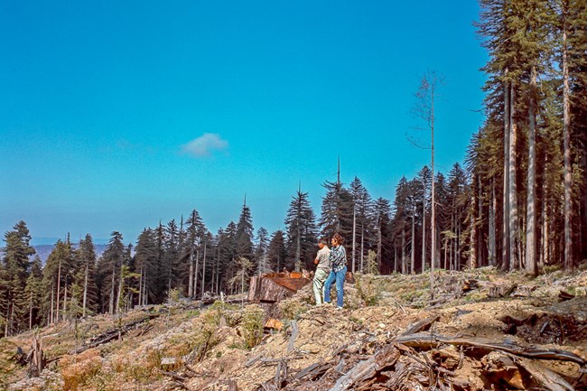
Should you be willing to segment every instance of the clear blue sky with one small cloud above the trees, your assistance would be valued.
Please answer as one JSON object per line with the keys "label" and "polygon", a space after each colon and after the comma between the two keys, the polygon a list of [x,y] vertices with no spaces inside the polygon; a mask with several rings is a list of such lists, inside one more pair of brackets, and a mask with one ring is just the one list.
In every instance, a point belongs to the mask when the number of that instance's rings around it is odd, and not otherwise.
{"label": "clear blue sky with one small cloud above the trees", "polygon": [[[284,229],[298,189],[358,177],[393,200],[482,125],[476,1],[0,0],[0,230],[95,240],[196,209],[212,233]],[[2,243],[0,242],[0,245]]]}

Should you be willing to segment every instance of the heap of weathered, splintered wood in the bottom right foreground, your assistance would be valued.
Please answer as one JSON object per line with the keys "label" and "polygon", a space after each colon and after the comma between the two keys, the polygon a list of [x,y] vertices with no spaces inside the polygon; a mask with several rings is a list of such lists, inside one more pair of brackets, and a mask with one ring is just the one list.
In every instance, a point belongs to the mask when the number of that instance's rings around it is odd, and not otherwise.
{"label": "heap of weathered, splintered wood in the bottom right foreground", "polygon": [[[416,323],[373,355],[363,351],[372,342],[367,338],[345,344],[330,360],[300,370],[289,368],[294,358],[257,358],[276,366],[275,377],[257,391],[587,389],[587,362],[572,352],[423,332],[433,321],[437,318]],[[578,368],[576,376],[565,378],[545,366],[544,360],[572,362]],[[484,385],[474,385],[459,373],[465,362],[482,374]]]}

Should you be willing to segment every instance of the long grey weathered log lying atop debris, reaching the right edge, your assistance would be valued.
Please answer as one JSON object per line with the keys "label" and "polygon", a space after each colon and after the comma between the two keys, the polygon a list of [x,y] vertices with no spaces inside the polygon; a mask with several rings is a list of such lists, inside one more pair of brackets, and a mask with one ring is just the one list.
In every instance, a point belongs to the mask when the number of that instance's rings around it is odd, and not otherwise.
{"label": "long grey weathered log lying atop debris, reaching the right edge", "polygon": [[415,333],[412,335],[399,336],[396,342],[402,343],[405,346],[412,348],[437,348],[442,344],[449,344],[455,346],[464,346],[477,349],[501,350],[507,353],[514,354],[520,357],[537,358],[537,359],[556,359],[560,361],[571,361],[579,364],[581,367],[585,366],[587,362],[570,351],[559,349],[536,349],[530,347],[522,347],[509,342],[492,342],[474,340],[468,338],[452,338],[437,334]]}

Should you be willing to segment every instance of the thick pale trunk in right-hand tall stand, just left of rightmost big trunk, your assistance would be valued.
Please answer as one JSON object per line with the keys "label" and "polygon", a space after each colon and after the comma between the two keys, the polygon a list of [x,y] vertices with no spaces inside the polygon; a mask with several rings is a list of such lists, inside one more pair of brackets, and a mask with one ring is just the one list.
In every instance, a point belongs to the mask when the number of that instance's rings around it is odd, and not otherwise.
{"label": "thick pale trunk in right-hand tall stand, just left of rightmost big trunk", "polygon": [[536,263],[536,67],[532,67],[530,79],[530,104],[528,107],[528,173],[526,202],[526,271],[538,274]]}

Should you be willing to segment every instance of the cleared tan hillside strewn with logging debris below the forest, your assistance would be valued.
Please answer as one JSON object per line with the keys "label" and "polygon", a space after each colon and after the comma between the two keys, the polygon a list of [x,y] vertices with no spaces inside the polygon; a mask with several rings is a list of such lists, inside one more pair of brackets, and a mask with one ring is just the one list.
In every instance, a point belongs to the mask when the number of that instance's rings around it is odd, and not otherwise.
{"label": "cleared tan hillside strewn with logging debris below the forest", "polygon": [[[343,310],[313,306],[308,285],[273,305],[63,321],[0,340],[0,389],[587,389],[587,264],[536,278],[439,271],[433,300],[429,280],[356,275]],[[48,364],[27,378],[14,353],[34,336]]]}

